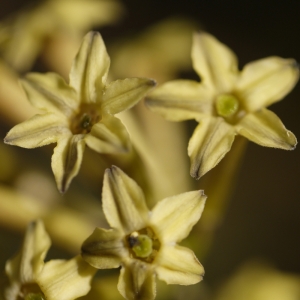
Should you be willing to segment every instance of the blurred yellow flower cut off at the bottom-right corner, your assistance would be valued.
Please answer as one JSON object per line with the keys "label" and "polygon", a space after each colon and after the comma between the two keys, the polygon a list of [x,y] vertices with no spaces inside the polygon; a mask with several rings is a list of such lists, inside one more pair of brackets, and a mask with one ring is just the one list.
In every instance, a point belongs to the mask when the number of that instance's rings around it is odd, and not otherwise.
{"label": "blurred yellow flower cut off at the bottom-right corner", "polygon": [[300,277],[261,263],[247,263],[221,287],[215,300],[298,300]]}

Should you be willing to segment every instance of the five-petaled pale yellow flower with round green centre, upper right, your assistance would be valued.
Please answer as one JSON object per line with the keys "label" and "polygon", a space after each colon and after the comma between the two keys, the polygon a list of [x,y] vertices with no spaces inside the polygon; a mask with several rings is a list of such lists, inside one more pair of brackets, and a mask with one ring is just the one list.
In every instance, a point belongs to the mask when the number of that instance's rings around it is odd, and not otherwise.
{"label": "five-petaled pale yellow flower with round green centre, upper right", "polygon": [[199,125],[188,145],[191,175],[199,179],[230,150],[236,134],[266,147],[294,149],[297,140],[265,107],[281,100],[296,84],[293,59],[268,57],[238,70],[234,53],[207,33],[194,35],[192,61],[201,82],[175,80],[148,97],[152,111],[172,121]]}

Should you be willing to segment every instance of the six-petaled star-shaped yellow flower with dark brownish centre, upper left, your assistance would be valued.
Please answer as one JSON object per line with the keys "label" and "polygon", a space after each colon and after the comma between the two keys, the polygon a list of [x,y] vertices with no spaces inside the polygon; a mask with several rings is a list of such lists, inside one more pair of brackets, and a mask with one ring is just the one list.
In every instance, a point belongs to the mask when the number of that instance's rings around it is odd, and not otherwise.
{"label": "six-petaled star-shaped yellow flower with dark brownish centre, upper left", "polygon": [[58,189],[67,190],[77,175],[85,145],[99,153],[120,153],[129,137],[113,115],[136,104],[155,85],[146,78],[106,83],[109,56],[99,33],[88,33],[70,73],[70,83],[54,73],[29,73],[22,81],[29,101],[42,109],[12,128],[5,143],[36,148],[57,142],[52,170]]}

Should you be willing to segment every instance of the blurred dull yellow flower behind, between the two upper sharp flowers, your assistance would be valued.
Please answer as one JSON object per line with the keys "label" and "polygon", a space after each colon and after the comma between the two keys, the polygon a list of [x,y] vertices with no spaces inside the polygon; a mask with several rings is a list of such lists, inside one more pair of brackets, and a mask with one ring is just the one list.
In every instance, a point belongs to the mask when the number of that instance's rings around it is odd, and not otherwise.
{"label": "blurred dull yellow flower behind, between the two upper sharp flowers", "polygon": [[[112,47],[112,74],[118,77],[152,77],[158,82],[176,78],[190,69],[192,32],[191,20],[170,18],[163,20],[131,39],[124,39]],[[130,57],[130,59],[128,59]]]}

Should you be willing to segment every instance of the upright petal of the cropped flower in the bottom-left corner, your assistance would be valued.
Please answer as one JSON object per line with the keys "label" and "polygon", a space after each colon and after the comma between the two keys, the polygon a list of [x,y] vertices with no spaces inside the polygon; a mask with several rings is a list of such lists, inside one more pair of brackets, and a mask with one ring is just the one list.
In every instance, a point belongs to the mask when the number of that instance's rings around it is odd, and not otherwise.
{"label": "upright petal of the cropped flower in the bottom-left corner", "polygon": [[5,270],[10,280],[34,282],[44,267],[44,259],[51,241],[41,220],[28,225],[21,251],[6,263]]}

